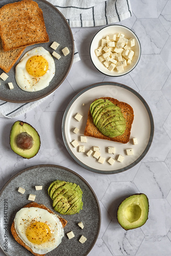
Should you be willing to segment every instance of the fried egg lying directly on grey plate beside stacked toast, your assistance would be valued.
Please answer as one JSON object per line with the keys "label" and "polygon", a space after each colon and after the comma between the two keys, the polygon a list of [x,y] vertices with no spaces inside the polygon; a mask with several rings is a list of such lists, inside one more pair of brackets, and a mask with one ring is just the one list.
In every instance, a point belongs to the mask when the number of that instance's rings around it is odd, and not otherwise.
{"label": "fried egg lying directly on grey plate beside stacked toast", "polygon": [[15,68],[15,80],[19,88],[27,92],[48,87],[54,75],[54,59],[43,47],[36,47],[25,53]]}

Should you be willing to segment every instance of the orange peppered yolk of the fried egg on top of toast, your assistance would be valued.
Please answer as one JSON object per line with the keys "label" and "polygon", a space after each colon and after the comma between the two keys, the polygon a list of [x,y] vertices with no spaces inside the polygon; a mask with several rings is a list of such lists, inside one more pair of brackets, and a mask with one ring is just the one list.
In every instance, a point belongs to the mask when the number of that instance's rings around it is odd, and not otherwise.
{"label": "orange peppered yolk of the fried egg on top of toast", "polygon": [[51,237],[51,230],[46,223],[34,222],[27,227],[26,236],[34,244],[42,244]]}

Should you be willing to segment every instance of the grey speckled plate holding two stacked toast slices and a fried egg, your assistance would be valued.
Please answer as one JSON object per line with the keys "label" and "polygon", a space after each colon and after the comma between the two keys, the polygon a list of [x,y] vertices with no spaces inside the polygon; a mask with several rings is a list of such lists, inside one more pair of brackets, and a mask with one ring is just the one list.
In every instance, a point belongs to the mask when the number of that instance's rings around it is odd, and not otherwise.
{"label": "grey speckled plate holding two stacked toast slices and a fried egg", "polygon": [[[6,4],[18,2],[17,0],[1,0],[0,1],[0,8]],[[44,20],[46,29],[49,35],[49,42],[44,44],[36,44],[33,46],[28,46],[23,54],[19,57],[19,59],[16,61],[12,69],[8,72],[8,79],[6,81],[3,81],[1,79],[1,86],[0,86],[0,99],[9,101],[9,102],[16,102],[16,103],[22,103],[22,102],[31,102],[35,101],[41,98],[44,98],[45,96],[49,95],[53,91],[55,91],[60,84],[65,80],[66,76],[68,75],[68,72],[71,68],[73,56],[74,56],[74,40],[73,35],[71,32],[71,29],[67,23],[66,18],[57,10],[56,7],[54,7],[52,4],[45,0],[35,0],[37,2],[38,6],[41,8],[43,14],[44,14]],[[49,51],[51,54],[54,51],[52,48],[50,48],[50,45],[53,41],[57,41],[60,46],[57,48],[56,52],[61,55],[61,58],[55,59],[55,76],[53,77],[52,81],[50,82],[49,86],[43,90],[40,90],[38,92],[25,92],[22,89],[20,89],[15,81],[15,66],[19,62],[20,58],[29,50],[42,46],[47,51]],[[61,49],[64,47],[68,47],[70,50],[70,54],[66,57],[61,52]],[[0,69],[0,74],[4,71]],[[8,87],[8,82],[12,82],[14,85],[14,89],[10,90]]]}

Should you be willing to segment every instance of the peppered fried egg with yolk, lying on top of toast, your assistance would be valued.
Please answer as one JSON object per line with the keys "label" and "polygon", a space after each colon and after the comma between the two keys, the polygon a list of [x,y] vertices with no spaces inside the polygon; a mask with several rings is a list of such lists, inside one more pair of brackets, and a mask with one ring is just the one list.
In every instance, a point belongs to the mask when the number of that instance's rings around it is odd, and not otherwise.
{"label": "peppered fried egg with yolk, lying on top of toast", "polygon": [[58,216],[37,207],[20,209],[15,215],[14,227],[18,237],[38,254],[55,249],[64,236]]}

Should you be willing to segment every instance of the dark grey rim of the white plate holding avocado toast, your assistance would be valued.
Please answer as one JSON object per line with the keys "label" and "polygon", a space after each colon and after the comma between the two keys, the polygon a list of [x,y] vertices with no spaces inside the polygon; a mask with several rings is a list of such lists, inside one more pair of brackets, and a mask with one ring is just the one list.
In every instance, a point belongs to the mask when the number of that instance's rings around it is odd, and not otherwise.
{"label": "dark grey rim of the white plate holding avocado toast", "polygon": [[[93,167],[90,167],[84,163],[82,163],[78,158],[75,157],[75,155],[73,154],[73,152],[71,151],[69,145],[68,145],[68,142],[67,142],[67,138],[66,138],[66,134],[65,134],[65,124],[66,124],[66,118],[67,118],[67,113],[69,111],[69,109],[71,108],[72,104],[74,103],[74,101],[81,95],[83,94],[84,92],[92,89],[92,88],[95,88],[95,87],[99,87],[99,86],[104,86],[104,85],[110,85],[110,86],[116,86],[116,87],[122,87],[130,92],[132,92],[133,94],[135,94],[140,100],[141,102],[144,104],[145,108],[146,108],[146,111],[148,113],[148,116],[149,116],[149,120],[150,120],[150,124],[151,124],[151,132],[150,132],[150,136],[149,136],[149,140],[148,140],[148,143],[147,143],[147,146],[145,147],[145,150],[143,151],[143,153],[131,164],[123,167],[123,168],[120,168],[120,169],[116,169],[116,170],[98,170],[98,169],[95,169]],[[91,172],[94,172],[94,173],[98,173],[98,174],[118,174],[118,173],[122,173],[124,172],[125,170],[128,170],[132,167],[134,167],[136,164],[138,164],[143,158],[144,156],[147,154],[149,148],[151,147],[151,144],[152,144],[152,141],[153,141],[153,136],[154,136],[154,120],[153,120],[153,116],[152,116],[152,112],[147,104],[147,102],[144,100],[144,98],[138,93],[136,92],[134,89],[128,87],[128,86],[125,86],[124,84],[122,83],[118,83],[118,82],[98,82],[98,83],[94,83],[92,84],[91,86],[88,86],[86,88],[84,88],[83,90],[81,90],[79,93],[77,93],[74,98],[70,101],[70,103],[68,104],[67,108],[66,108],[66,111],[65,113],[63,114],[63,119],[62,119],[62,138],[63,138],[63,142],[69,152],[69,154],[71,155],[71,157],[79,164],[81,165],[83,168],[86,168],[88,170],[90,170]]]}

